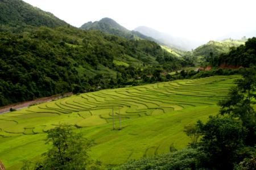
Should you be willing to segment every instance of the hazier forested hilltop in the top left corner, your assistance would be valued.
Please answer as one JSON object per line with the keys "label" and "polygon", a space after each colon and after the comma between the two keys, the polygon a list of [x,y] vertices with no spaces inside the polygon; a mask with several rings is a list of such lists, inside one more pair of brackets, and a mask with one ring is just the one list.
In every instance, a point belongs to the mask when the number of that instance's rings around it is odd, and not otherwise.
{"label": "hazier forested hilltop in the top left corner", "polygon": [[22,0],[0,0],[0,25],[60,27],[68,25],[49,12],[44,12]]}

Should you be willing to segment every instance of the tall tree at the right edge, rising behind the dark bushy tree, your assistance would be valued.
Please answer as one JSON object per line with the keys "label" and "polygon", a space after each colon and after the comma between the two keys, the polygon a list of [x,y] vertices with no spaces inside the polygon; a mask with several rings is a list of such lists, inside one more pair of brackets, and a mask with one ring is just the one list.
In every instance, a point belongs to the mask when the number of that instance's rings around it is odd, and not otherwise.
{"label": "tall tree at the right edge, rising behind the dark bushy tree", "polygon": [[228,97],[218,103],[220,114],[240,118],[243,126],[249,130],[246,137],[246,145],[254,146],[256,141],[256,114],[251,106],[251,100],[255,99],[255,69],[246,69],[243,72],[243,79],[237,80],[237,87],[233,88]]}

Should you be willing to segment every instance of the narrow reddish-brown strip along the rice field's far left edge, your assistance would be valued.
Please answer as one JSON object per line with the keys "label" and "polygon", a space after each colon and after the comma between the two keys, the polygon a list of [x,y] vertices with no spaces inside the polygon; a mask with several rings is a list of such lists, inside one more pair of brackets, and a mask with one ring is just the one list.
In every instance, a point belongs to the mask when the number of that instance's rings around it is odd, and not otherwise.
{"label": "narrow reddish-brown strip along the rice field's far left edge", "polygon": [[31,101],[23,101],[22,103],[6,105],[5,107],[0,108],[0,114],[9,112],[10,108],[22,109],[22,108],[26,108],[26,107],[28,107],[29,105],[32,105],[32,104],[45,103],[47,101],[52,101],[52,100],[55,100],[55,99],[61,99],[63,97],[67,97],[67,96],[71,96],[71,95],[73,95],[73,94],[72,93],[67,93],[67,94],[64,94],[64,95],[54,95],[54,96],[43,97],[43,98],[31,100]]}

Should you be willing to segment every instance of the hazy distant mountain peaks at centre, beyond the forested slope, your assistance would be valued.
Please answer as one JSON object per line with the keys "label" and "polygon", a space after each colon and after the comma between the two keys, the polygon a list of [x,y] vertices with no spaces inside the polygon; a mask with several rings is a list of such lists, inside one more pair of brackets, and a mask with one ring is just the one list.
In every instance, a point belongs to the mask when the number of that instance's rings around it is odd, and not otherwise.
{"label": "hazy distant mountain peaks at centre, beyond the forested slope", "polygon": [[80,28],[85,30],[97,29],[105,33],[125,37],[126,39],[146,39],[155,41],[160,45],[168,46],[172,49],[185,51],[201,45],[201,42],[171,36],[167,33],[162,33],[149,27],[138,27],[133,31],[130,31],[110,18],[103,18],[96,22],[88,22],[83,24]]}

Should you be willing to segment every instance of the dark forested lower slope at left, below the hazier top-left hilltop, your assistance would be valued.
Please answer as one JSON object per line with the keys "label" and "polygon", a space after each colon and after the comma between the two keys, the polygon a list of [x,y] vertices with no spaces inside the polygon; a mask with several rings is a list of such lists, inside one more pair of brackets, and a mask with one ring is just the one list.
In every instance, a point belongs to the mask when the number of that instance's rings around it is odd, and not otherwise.
{"label": "dark forested lower slope at left, below the hazier top-left hilltop", "polygon": [[[114,87],[117,84],[110,85],[110,78],[117,72],[125,80],[119,85],[129,84],[128,79],[131,84],[143,72],[133,66],[115,66],[114,56],[120,61],[126,55],[155,65],[156,56],[166,55],[155,42],[67,27],[0,32],[0,46],[0,105]],[[179,59],[173,60],[179,65]]]}

